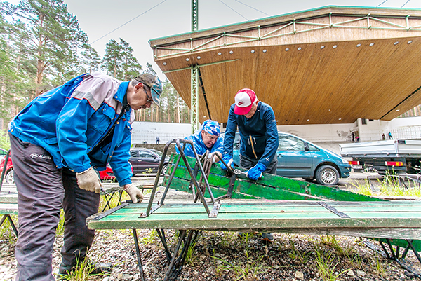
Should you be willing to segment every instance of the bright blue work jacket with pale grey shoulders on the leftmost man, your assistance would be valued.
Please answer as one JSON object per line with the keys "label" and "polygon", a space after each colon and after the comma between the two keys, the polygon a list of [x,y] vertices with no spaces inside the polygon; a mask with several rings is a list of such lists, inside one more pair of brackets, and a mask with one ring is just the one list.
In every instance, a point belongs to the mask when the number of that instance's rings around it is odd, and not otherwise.
{"label": "bright blue work jacket with pale grey shoulders on the leftmost man", "polygon": [[114,135],[91,153],[119,116],[128,83],[105,74],[73,78],[29,102],[13,118],[9,132],[46,149],[59,169],[104,170],[109,163],[121,186],[131,184],[130,108],[116,122]]}

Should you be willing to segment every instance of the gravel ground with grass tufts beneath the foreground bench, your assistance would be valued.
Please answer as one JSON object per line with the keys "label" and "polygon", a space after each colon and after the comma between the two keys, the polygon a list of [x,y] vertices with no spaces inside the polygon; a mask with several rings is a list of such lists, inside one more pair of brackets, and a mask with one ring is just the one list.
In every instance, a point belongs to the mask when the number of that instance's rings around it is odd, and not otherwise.
{"label": "gravel ground with grass tufts beneath the foreground bench", "polygon": [[[172,249],[173,236],[178,233],[170,231],[166,235]],[[168,265],[156,231],[139,230],[138,238],[146,280],[163,280]],[[278,233],[274,233],[274,238],[267,245],[258,234],[243,239],[233,232],[203,231],[178,280],[421,280],[368,249],[359,238]],[[58,235],[55,240],[55,276],[61,261],[62,239]],[[15,280],[14,245],[11,229],[0,230],[0,280]],[[112,273],[73,280],[141,280],[131,231],[97,231],[89,257],[113,263]],[[421,265],[412,252],[406,263],[421,273]]]}

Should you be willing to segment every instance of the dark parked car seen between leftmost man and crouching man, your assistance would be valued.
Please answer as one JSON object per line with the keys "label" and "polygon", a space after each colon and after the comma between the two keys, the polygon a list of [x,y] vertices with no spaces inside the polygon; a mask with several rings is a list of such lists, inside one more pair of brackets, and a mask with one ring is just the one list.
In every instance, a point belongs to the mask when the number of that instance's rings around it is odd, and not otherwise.
{"label": "dark parked car seen between leftmost man and crouching man", "polygon": [[[162,152],[156,149],[131,149],[128,162],[133,167],[133,176],[135,174],[154,174],[158,172],[159,163],[161,163]],[[166,173],[170,158],[166,156],[163,163],[162,174]]]}

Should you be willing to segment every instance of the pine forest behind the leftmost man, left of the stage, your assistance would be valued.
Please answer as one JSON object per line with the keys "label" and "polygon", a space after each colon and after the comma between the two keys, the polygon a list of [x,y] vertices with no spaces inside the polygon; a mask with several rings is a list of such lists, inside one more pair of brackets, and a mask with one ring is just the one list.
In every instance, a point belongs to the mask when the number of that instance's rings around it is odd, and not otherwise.
{"label": "pine forest behind the leftmost man, left of the stage", "polygon": [[[105,55],[88,43],[63,0],[0,3],[0,146],[7,145],[7,124],[42,93],[86,72],[100,71],[121,81],[144,72],[133,48],[122,38],[107,43]],[[161,107],[135,111],[135,121],[189,123],[189,107],[173,85],[163,82]]]}

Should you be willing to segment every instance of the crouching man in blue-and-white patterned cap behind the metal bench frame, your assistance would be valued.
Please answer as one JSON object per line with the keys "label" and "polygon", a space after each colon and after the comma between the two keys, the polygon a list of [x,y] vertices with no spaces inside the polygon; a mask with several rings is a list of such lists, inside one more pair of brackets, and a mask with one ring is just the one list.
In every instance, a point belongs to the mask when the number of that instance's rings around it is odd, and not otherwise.
{"label": "crouching man in blue-and-white patterned cap behind the metal bench frame", "polygon": [[[197,154],[203,155],[206,151],[209,153],[216,152],[222,158],[222,153],[224,152],[224,139],[221,136],[221,128],[218,122],[213,120],[206,120],[203,122],[203,125],[199,130],[197,130],[193,135],[185,137],[185,139],[191,140],[194,144],[194,149],[196,149]],[[194,157],[194,152],[192,146],[186,145],[185,155]],[[180,153],[177,149],[177,153]],[[213,157],[213,162],[218,162],[218,156]]]}

